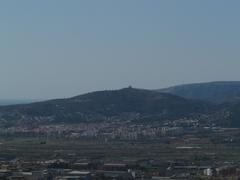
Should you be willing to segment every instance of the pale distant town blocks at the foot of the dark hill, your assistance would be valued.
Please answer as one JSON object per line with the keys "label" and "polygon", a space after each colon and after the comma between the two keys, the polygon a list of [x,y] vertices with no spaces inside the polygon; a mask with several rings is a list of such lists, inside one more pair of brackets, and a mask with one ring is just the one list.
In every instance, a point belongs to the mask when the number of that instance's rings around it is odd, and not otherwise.
{"label": "pale distant town blocks at the foot of the dark hill", "polygon": [[82,125],[48,125],[37,128],[11,127],[1,129],[1,136],[18,137],[51,137],[51,138],[98,138],[138,140],[153,139],[168,135],[180,135],[184,132],[181,127],[161,127],[151,125],[120,124],[82,124]]}

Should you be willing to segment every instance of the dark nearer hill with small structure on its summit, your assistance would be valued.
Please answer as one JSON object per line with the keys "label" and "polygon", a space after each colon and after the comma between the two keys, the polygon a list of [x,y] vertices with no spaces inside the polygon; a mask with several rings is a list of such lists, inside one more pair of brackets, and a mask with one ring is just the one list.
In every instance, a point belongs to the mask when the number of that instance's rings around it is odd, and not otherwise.
{"label": "dark nearer hill with small structure on its summit", "polygon": [[150,90],[124,88],[27,105],[0,107],[0,125],[121,121],[162,121],[204,113],[206,103]]}

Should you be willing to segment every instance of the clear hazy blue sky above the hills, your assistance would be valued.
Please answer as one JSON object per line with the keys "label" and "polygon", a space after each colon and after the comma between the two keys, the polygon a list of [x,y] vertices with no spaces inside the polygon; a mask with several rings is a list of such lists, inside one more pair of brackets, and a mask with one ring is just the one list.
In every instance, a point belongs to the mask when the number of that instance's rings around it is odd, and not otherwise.
{"label": "clear hazy blue sky above the hills", "polygon": [[2,0],[0,99],[240,80],[239,0]]}

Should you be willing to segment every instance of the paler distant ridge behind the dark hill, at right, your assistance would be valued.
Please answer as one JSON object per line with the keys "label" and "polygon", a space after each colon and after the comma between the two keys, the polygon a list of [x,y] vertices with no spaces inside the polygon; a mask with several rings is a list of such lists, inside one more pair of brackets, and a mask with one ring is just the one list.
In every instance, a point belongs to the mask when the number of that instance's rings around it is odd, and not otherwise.
{"label": "paler distant ridge behind the dark hill, at right", "polygon": [[240,101],[240,81],[186,84],[157,91],[214,104]]}

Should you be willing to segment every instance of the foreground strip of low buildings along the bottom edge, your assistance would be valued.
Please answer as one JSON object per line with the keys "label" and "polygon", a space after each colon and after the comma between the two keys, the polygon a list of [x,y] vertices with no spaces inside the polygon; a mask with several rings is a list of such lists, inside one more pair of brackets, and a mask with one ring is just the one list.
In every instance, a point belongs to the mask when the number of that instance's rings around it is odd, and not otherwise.
{"label": "foreground strip of low buildings along the bottom edge", "polygon": [[100,160],[1,161],[1,180],[173,180],[236,179],[238,164],[219,167],[186,165],[183,162],[129,160],[110,163]]}

